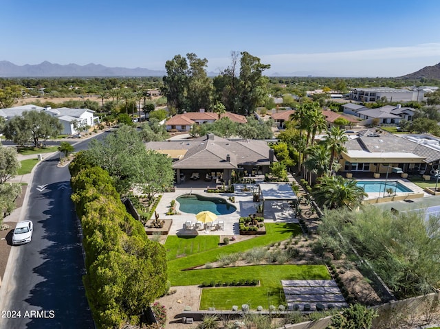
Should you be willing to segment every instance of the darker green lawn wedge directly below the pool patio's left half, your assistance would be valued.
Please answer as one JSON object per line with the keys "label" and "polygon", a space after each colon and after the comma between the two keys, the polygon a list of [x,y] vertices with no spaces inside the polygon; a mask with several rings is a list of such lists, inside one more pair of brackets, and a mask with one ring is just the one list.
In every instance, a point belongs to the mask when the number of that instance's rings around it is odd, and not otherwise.
{"label": "darker green lawn wedge directly below the pool patio's left half", "polygon": [[168,236],[166,258],[173,260],[219,247],[219,236]]}

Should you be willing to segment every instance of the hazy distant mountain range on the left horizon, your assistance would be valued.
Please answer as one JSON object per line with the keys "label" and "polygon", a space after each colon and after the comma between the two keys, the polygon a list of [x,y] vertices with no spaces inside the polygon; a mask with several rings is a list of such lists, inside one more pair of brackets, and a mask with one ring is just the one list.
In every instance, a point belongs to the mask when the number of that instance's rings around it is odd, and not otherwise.
{"label": "hazy distant mountain range on the left horizon", "polygon": [[151,69],[127,69],[125,67],[105,67],[93,63],[87,65],[59,65],[50,62],[43,62],[36,65],[15,65],[7,60],[0,61],[0,77],[68,77],[68,76],[165,76],[166,71],[155,71]]}

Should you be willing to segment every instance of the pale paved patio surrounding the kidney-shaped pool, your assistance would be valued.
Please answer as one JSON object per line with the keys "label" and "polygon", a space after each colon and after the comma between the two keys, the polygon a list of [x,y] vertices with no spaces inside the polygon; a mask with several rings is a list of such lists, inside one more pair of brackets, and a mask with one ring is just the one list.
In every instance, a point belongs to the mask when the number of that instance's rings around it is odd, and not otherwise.
{"label": "pale paved patio surrounding the kidney-shaped pool", "polygon": [[[162,195],[162,199],[157,205],[156,212],[159,214],[160,219],[173,219],[173,225],[171,225],[170,235],[181,236],[195,236],[202,234],[218,235],[218,236],[233,236],[239,235],[239,218],[249,216],[256,213],[256,205],[259,202],[252,201],[252,184],[246,184],[251,191],[242,192],[243,184],[234,184],[234,193],[207,193],[206,188],[176,188],[175,192],[167,192]],[[236,212],[228,215],[217,216],[217,221],[224,222],[224,229],[212,229],[211,231],[205,231],[204,229],[184,229],[184,223],[188,220],[195,223],[195,214],[187,214],[179,212],[178,203],[176,202],[176,210],[178,215],[166,215],[170,202],[175,200],[177,196],[182,194],[199,194],[208,197],[221,197],[228,201],[229,196],[235,197]],[[230,202],[230,201],[228,201]],[[265,223],[298,223],[298,219],[295,218],[294,209],[290,207],[289,203],[285,201],[278,202],[266,202],[265,203]]]}

